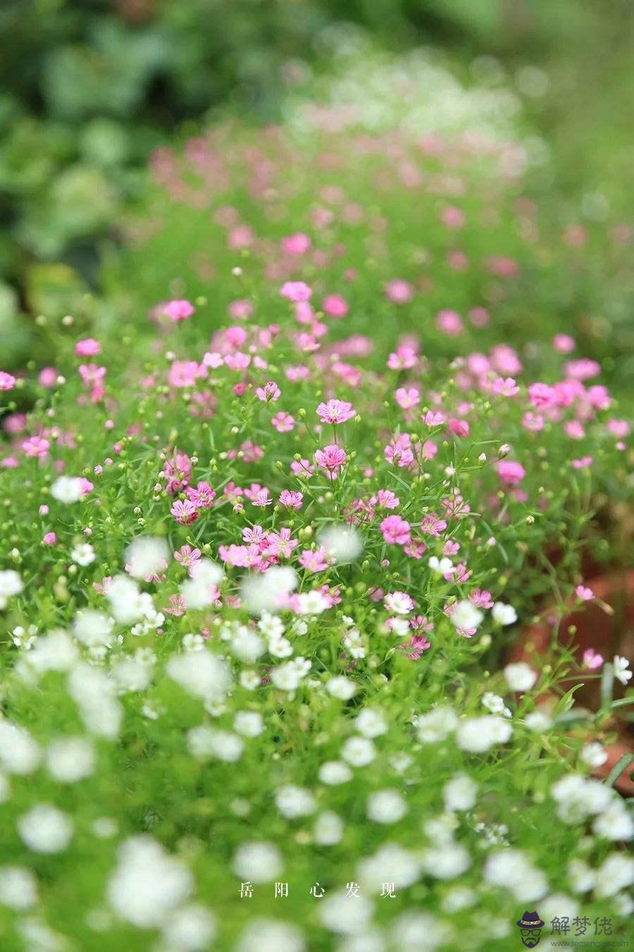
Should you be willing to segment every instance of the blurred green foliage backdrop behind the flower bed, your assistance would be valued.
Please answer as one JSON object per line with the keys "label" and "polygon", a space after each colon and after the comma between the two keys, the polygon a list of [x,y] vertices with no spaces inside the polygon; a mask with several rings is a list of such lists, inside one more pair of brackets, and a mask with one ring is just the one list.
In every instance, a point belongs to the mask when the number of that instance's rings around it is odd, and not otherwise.
{"label": "blurred green foliage backdrop behind the flower bed", "polygon": [[631,219],[629,0],[3,0],[3,368],[54,358],[38,315],[89,310],[151,150],[218,114],[276,120],[289,87],[336,68],[324,37],[346,22],[504,77],[549,150],[538,188],[572,221]]}

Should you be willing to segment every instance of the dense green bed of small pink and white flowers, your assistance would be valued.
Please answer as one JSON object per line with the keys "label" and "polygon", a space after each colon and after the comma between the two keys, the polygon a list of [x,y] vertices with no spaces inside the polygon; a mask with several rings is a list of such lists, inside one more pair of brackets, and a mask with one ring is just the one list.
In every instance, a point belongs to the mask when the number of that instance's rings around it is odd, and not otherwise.
{"label": "dense green bed of small pink and white flowers", "polygon": [[128,304],[0,374],[3,950],[631,936],[634,824],[591,776],[626,659],[494,664],[542,597],[553,636],[594,599],[629,429],[516,157],[161,152]]}

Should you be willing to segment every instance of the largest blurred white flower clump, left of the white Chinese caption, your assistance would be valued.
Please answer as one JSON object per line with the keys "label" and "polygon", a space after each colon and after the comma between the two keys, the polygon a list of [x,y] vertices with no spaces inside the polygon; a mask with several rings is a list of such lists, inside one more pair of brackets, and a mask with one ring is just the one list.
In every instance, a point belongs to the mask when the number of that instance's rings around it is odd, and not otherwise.
{"label": "largest blurred white flower clump, left of the white Chinese caption", "polygon": [[161,843],[135,836],[119,847],[117,866],[107,884],[112,910],[141,929],[170,922],[191,892],[193,877]]}

